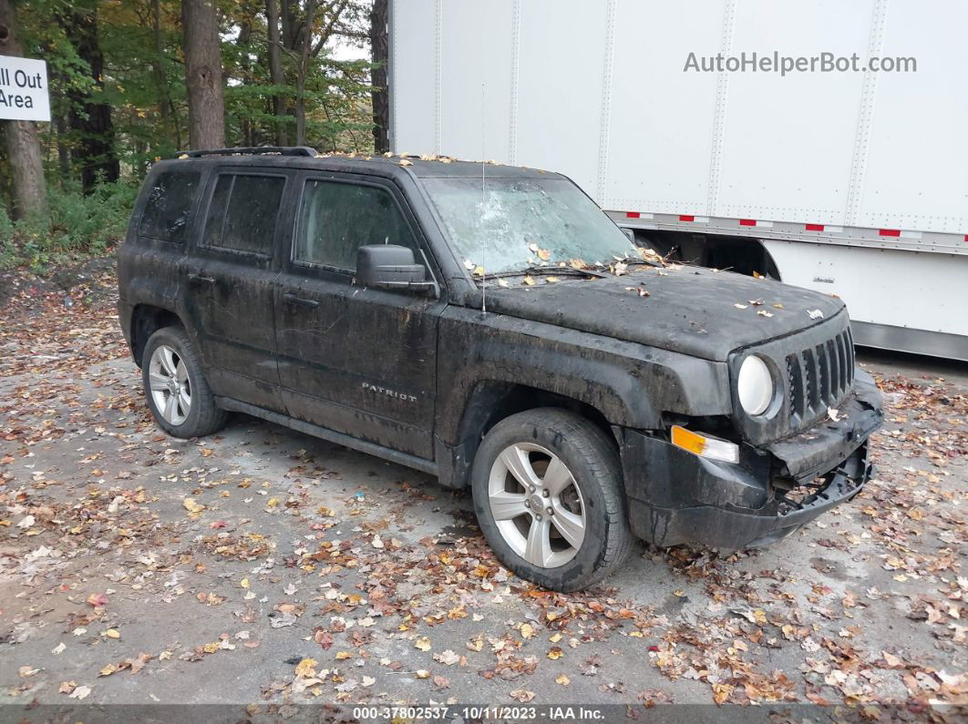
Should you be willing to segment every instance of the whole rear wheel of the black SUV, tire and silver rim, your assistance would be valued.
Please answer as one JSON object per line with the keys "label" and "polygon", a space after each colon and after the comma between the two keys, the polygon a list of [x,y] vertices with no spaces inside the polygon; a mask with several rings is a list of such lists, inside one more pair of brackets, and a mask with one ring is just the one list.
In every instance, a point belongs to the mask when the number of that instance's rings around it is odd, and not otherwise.
{"label": "whole rear wheel of the black SUV, tire and silver rim", "polygon": [[226,423],[201,371],[188,335],[164,327],[144,347],[141,366],[144,394],[155,421],[178,438],[211,435]]}

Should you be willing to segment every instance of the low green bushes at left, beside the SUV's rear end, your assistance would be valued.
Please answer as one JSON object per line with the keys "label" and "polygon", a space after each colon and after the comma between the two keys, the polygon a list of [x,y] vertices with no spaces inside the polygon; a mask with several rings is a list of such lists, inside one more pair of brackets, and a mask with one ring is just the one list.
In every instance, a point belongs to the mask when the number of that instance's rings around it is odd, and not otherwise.
{"label": "low green bushes at left, beside the SUV's rear end", "polygon": [[103,254],[124,238],[137,195],[129,182],[79,188],[50,188],[50,216],[11,221],[0,207],[0,267],[42,270],[63,259]]}

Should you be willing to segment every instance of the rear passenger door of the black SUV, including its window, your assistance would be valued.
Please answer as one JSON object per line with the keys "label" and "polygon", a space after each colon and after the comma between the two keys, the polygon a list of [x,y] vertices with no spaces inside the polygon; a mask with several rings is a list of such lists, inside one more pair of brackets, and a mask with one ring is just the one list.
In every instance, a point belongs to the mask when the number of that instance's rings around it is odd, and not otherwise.
{"label": "rear passenger door of the black SUV, including its window", "polygon": [[273,301],[287,183],[274,169],[213,174],[185,279],[212,391],[275,412],[285,411]]}

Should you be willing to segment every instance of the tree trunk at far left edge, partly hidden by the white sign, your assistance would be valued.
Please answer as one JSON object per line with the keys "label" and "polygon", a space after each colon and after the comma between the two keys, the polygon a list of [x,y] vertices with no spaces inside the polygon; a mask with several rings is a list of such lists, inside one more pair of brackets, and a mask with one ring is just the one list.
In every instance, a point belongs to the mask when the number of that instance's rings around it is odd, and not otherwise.
{"label": "tree trunk at far left edge, partly hidden by the white sign", "polygon": [[[12,0],[0,0],[0,55],[21,57]],[[14,177],[15,218],[46,216],[47,186],[37,128],[32,121],[0,121]]]}

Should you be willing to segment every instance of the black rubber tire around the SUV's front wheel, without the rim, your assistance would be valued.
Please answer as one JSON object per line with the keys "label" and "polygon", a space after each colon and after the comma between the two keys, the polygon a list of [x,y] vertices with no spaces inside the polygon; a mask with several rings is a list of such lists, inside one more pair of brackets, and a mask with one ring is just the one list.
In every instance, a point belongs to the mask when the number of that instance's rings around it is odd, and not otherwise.
{"label": "black rubber tire around the SUV's front wheel, without the rim", "polygon": [[[518,444],[554,453],[581,490],[585,536],[574,558],[563,565],[542,567],[526,561],[505,540],[491,510],[492,468],[503,450]],[[477,521],[500,562],[546,589],[569,592],[598,583],[620,567],[634,543],[618,450],[598,427],[566,410],[540,408],[501,420],[477,449],[471,489]],[[522,519],[516,520],[520,525]],[[526,526],[528,521],[526,515]]]}

